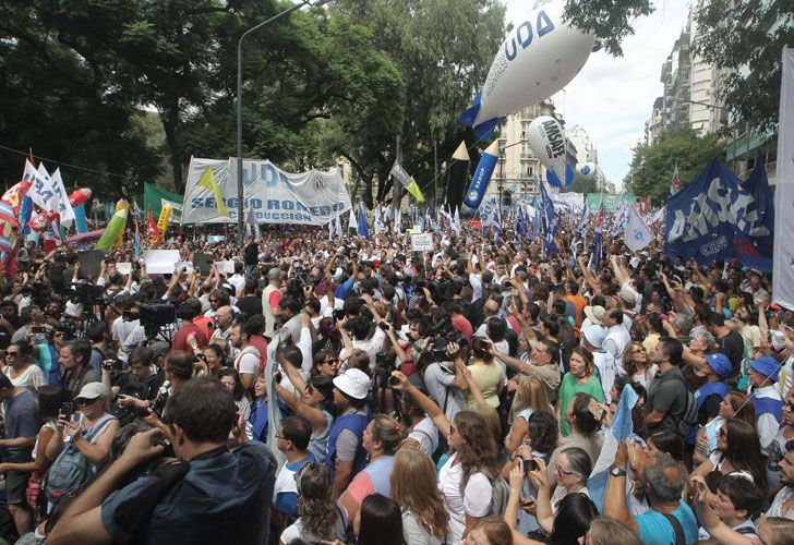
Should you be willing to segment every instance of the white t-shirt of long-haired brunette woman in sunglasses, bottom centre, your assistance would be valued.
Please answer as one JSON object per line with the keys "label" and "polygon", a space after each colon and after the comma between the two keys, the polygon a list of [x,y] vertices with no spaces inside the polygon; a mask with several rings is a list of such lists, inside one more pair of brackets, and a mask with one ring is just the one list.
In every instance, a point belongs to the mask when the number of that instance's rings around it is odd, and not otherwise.
{"label": "white t-shirt of long-haired brunette woman in sunglasses, bottom centre", "polygon": [[464,468],[456,464],[457,453],[442,465],[438,471],[438,489],[444,495],[444,502],[449,513],[449,535],[447,543],[458,543],[466,530],[466,516],[485,517],[491,511],[493,489],[484,473],[474,473],[466,484],[464,496],[460,496],[460,480]]}

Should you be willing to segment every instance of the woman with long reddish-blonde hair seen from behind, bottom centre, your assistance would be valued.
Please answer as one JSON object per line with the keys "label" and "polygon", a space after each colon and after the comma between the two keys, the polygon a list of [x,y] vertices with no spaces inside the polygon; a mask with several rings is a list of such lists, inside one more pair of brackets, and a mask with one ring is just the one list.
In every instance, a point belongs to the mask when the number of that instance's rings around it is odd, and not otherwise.
{"label": "woman with long reddish-blonde hair seen from behind, bottom centre", "polygon": [[401,447],[392,470],[392,499],[402,509],[402,537],[406,545],[440,545],[449,529],[441,491],[428,483],[435,481],[435,468],[417,447]]}

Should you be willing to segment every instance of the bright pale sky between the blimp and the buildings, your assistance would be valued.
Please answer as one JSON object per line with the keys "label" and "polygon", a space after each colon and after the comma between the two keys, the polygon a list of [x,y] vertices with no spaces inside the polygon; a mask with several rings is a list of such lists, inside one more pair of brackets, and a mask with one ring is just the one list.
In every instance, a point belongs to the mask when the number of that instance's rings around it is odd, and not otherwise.
{"label": "bright pale sky between the blimp and the buildings", "polygon": [[[507,21],[514,23],[520,23],[534,4],[532,0],[503,1]],[[623,57],[610,57],[603,50],[592,53],[581,72],[553,97],[566,126],[580,125],[589,133],[601,170],[618,190],[631,164],[631,147],[643,137],[653,100],[662,95],[662,63],[689,10],[687,0],[658,0],[653,5],[651,15],[635,21],[635,34],[622,44]]]}

